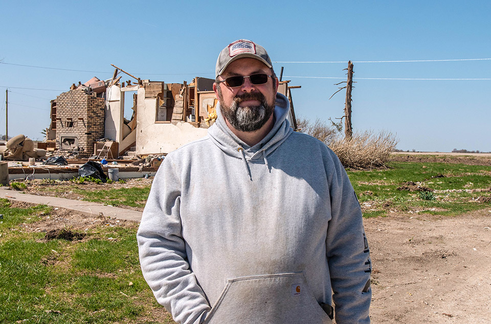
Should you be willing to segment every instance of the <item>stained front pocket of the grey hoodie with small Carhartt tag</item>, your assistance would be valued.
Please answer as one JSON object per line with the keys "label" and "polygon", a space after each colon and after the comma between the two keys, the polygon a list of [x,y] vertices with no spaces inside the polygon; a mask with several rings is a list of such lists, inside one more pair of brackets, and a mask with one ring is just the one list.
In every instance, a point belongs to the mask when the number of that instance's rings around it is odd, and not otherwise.
{"label": "stained front pocket of the grey hoodie with small Carhartt tag", "polygon": [[227,281],[206,324],[328,324],[302,272],[239,277]]}

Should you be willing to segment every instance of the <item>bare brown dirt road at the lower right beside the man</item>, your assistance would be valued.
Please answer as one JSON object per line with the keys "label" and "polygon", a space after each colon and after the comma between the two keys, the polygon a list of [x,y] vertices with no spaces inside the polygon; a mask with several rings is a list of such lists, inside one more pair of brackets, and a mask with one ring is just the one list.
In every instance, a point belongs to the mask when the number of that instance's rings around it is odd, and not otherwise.
{"label": "bare brown dirt road at the lower right beside the man", "polygon": [[491,210],[365,219],[372,323],[491,323]]}

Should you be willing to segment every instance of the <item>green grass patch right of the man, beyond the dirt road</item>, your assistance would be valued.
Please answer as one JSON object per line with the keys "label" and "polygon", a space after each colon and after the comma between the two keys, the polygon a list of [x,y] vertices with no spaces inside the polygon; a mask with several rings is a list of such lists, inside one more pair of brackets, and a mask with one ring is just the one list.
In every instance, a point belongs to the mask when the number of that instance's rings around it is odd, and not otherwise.
{"label": "green grass patch right of the man, beyond the dirt road", "polygon": [[365,217],[391,211],[454,216],[491,207],[481,199],[491,196],[489,166],[392,162],[386,170],[348,171],[348,176]]}

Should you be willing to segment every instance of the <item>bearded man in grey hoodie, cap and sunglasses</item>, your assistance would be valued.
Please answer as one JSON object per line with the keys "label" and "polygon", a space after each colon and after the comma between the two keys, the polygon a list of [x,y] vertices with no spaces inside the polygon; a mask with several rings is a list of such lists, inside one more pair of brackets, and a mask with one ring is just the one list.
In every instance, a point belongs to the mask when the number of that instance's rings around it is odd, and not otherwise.
{"label": "bearded man in grey hoodie, cap and sunglasses", "polygon": [[145,280],[178,323],[369,323],[370,259],[339,159],[294,132],[264,48],[221,51],[208,136],[169,153],[138,231]]}

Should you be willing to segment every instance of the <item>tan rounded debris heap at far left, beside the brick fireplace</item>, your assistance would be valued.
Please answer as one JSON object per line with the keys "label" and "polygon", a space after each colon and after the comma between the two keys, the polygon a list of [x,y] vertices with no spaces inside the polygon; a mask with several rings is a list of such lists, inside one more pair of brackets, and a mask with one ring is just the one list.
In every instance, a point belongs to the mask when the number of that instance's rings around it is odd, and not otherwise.
{"label": "tan rounded debris heap at far left, beside the brick fireplace", "polygon": [[10,138],[4,146],[0,146],[0,155],[6,160],[27,161],[30,157],[39,158],[46,156],[46,150],[34,148],[31,138],[19,134]]}

